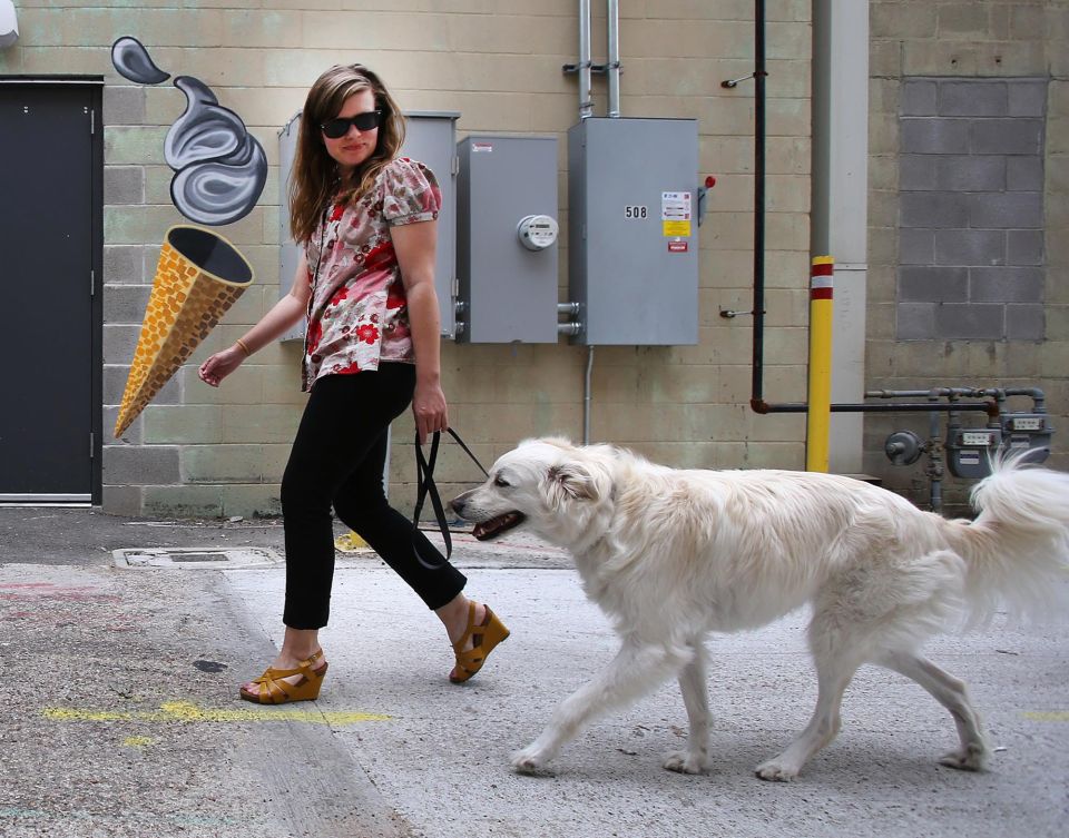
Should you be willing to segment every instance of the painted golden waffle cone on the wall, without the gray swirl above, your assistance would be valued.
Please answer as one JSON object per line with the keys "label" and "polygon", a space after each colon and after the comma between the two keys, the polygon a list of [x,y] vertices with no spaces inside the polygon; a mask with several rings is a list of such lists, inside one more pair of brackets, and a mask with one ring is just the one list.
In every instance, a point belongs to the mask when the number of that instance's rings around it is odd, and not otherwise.
{"label": "painted golden waffle cone on the wall, without the gray swirl above", "polygon": [[217,233],[189,225],[167,230],[115,422],[116,438],[252,282],[252,266]]}

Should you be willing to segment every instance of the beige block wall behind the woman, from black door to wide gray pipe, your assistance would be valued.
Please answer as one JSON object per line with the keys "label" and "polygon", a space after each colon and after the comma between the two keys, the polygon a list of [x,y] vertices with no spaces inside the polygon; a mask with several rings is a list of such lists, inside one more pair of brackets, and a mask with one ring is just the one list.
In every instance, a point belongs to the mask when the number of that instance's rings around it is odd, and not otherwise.
{"label": "beige block wall behind the woman, from black door to wide gray pipe", "polygon": [[[605,8],[594,3],[595,60],[604,60]],[[808,283],[808,0],[768,4],[768,223],[765,392],[804,397]],[[467,132],[555,134],[578,119],[578,2],[543,0],[21,0],[21,37],[0,51],[0,73],[102,73],[105,89],[105,427],[114,425],[159,246],[179,223],[170,205],[164,137],[185,100],[165,82],[118,76],[109,48],[134,36],[173,75],[207,83],[242,116],[268,155],[259,205],[219,231],[249,259],[256,282],[154,404],[104,452],[105,511],[146,515],[276,513],[278,481],[303,396],[300,347],[258,353],[219,390],[196,366],[234,341],[278,295],[277,130],[326,67],[362,61],[409,110],[455,110]],[[749,398],[751,326],[722,308],[751,300],[753,86],[720,81],[753,70],[753,3],[622,0],[624,116],[699,124],[700,171],[717,177],[700,229],[700,344],[597,349],[591,438],[630,445],[679,466],[804,462],[804,421],[757,416]],[[595,112],[606,108],[595,79]],[[656,150],[651,150],[656,152]],[[561,229],[567,230],[561,152]],[[567,238],[567,236],[566,236]],[[567,240],[563,241],[567,248]],[[567,270],[567,254],[560,258]],[[565,299],[567,276],[560,276]],[[448,344],[451,420],[486,462],[532,434],[582,434],[583,347]],[[411,504],[409,417],[394,427],[391,495]],[[440,464],[443,494],[478,477],[453,446]]]}

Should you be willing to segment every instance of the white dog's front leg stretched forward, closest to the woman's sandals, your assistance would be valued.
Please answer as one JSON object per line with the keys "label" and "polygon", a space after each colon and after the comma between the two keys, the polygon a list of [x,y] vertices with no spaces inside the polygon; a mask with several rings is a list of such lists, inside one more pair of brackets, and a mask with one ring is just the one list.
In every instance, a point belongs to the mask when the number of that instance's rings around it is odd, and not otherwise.
{"label": "white dog's front leg stretched forward, closest to the woman's sandals", "polygon": [[637,701],[687,660],[678,650],[625,640],[608,668],[565,699],[538,739],[512,755],[512,766],[524,772],[545,767],[596,716]]}

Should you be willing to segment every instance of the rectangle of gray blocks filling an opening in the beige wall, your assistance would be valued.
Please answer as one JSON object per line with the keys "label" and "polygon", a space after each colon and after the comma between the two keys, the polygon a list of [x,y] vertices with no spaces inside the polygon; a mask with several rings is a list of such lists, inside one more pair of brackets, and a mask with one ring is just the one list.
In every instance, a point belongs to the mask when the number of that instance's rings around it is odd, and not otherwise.
{"label": "rectangle of gray blocks filling an opening in the beige wall", "polygon": [[1046,79],[901,86],[900,341],[1043,337]]}

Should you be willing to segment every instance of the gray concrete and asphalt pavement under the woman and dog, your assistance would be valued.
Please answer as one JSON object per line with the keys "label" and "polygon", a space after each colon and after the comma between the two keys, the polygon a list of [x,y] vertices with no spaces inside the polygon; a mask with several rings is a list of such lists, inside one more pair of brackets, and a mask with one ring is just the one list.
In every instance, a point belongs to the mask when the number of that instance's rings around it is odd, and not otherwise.
{"label": "gray concrete and asphalt pavement under the woman and dog", "polygon": [[[343,531],[340,531],[343,532]],[[686,732],[666,684],[565,749],[509,753],[615,653],[563,553],[454,536],[469,593],[512,637],[470,683],[444,633],[370,553],[340,556],[320,700],[258,708],[236,686],[281,637],[283,569],[117,569],[112,551],[256,546],[277,522],[146,522],[0,509],[0,835],[1061,836],[1069,815],[1069,627],[997,624],[932,643],[969,681],[992,770],[936,765],[949,714],[863,670],[840,738],[791,785],[753,777],[812,710],[804,614],[710,643],[713,770],[660,768]]]}

